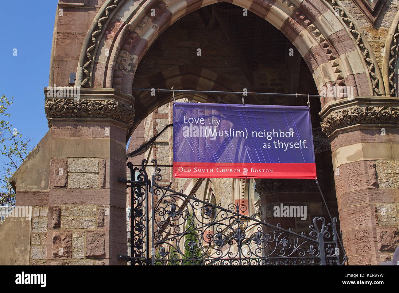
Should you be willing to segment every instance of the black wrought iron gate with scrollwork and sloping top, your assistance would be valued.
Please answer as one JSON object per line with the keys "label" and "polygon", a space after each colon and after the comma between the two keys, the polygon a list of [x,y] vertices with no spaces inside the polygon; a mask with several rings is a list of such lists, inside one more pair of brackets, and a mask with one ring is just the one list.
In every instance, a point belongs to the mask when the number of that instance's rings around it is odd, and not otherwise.
{"label": "black wrought iron gate with scrollwork and sloping top", "polygon": [[[342,265],[336,221],[313,218],[306,234],[245,216],[245,205],[227,208],[201,201],[159,184],[154,163],[141,168],[128,163],[131,189],[131,254],[119,255],[131,265]],[[340,251],[343,253],[340,254]]]}

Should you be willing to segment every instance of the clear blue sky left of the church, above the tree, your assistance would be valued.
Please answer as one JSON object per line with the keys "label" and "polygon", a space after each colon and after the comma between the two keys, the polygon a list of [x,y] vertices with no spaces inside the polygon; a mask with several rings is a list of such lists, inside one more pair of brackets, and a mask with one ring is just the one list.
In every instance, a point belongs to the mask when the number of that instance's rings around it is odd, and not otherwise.
{"label": "clear blue sky left of the church, above the tree", "polygon": [[[14,96],[8,119],[36,146],[48,131],[43,87],[48,86],[57,0],[2,1],[0,96]],[[17,49],[17,56],[13,56]]]}

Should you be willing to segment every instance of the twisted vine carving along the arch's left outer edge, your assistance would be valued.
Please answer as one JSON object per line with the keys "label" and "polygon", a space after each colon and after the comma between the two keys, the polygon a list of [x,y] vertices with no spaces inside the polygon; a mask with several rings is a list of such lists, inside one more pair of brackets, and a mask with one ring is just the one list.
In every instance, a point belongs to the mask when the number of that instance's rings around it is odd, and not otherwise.
{"label": "twisted vine carving along the arch's left outer edge", "polygon": [[[111,4],[112,3],[112,4]],[[103,22],[109,19],[109,14],[111,13],[111,10],[115,9],[115,7],[118,6],[119,0],[113,0],[111,1],[111,5],[107,6],[99,20],[97,21],[97,26],[93,28],[93,32],[91,33],[91,44],[89,43],[89,47],[86,49],[86,58],[85,58],[85,64],[83,65],[83,75],[85,79],[83,79],[81,86],[85,86],[87,82],[90,81],[91,75],[90,71],[92,67],[92,63],[94,62],[95,55],[91,55],[91,51],[95,49],[97,46],[97,38],[101,31],[103,30]]]}

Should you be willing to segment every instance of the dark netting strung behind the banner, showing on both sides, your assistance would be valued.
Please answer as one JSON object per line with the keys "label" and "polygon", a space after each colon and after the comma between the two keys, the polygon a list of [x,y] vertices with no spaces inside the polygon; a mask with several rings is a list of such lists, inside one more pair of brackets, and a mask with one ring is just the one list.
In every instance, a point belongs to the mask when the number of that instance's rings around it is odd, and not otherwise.
{"label": "dark netting strung behind the banner, showing on both sides", "polygon": [[[166,130],[168,127],[173,126],[173,123],[168,124],[158,133],[156,136],[153,136],[144,144],[142,144],[138,149],[135,149],[131,153],[128,153],[128,157],[135,157],[137,155],[142,155],[146,152],[147,149],[150,148],[151,144]],[[320,127],[312,128],[313,131],[313,145],[314,145],[314,153],[322,153],[323,151],[327,151],[331,148],[330,140],[328,140],[326,134],[322,132]]]}

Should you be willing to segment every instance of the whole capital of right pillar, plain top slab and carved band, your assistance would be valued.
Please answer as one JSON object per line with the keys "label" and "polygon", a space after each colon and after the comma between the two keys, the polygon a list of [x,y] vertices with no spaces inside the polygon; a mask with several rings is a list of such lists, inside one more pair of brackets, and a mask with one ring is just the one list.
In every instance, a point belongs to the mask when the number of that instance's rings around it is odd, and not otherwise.
{"label": "whole capital of right pillar, plain top slab and carved band", "polygon": [[327,135],[356,124],[399,124],[399,100],[371,96],[346,98],[327,104],[320,115],[321,129]]}

